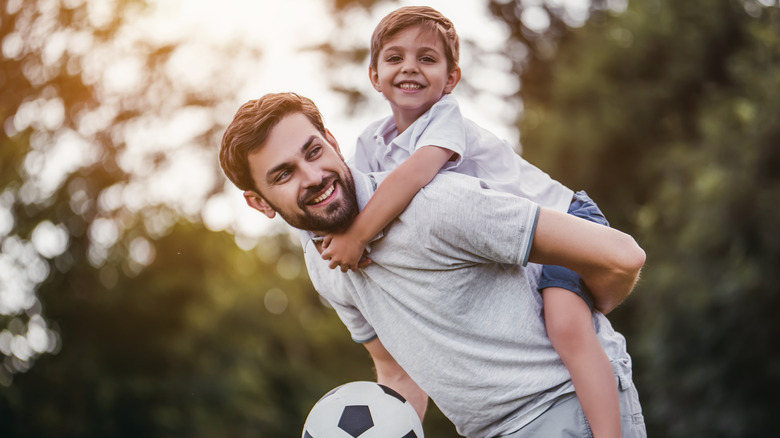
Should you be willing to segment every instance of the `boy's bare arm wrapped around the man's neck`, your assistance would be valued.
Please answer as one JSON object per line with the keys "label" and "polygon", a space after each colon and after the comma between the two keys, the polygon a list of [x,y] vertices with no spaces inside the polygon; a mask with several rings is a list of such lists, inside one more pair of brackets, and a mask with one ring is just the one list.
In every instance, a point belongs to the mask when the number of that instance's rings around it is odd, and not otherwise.
{"label": "boy's bare arm wrapped around the man's neck", "polygon": [[452,155],[449,149],[424,146],[390,172],[349,229],[325,237],[322,258],[330,260],[330,268],[357,270],[368,242],[404,211]]}

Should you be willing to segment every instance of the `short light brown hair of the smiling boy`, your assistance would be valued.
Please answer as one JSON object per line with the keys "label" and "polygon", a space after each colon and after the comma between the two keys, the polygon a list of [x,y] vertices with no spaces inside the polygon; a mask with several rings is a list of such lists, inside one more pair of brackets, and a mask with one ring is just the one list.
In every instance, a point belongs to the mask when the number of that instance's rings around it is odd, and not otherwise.
{"label": "short light brown hair of the smiling boy", "polygon": [[428,6],[407,6],[389,13],[374,29],[371,36],[371,68],[377,68],[379,52],[385,43],[412,26],[423,26],[439,36],[444,43],[448,70],[452,71],[458,66],[460,40],[452,22]]}

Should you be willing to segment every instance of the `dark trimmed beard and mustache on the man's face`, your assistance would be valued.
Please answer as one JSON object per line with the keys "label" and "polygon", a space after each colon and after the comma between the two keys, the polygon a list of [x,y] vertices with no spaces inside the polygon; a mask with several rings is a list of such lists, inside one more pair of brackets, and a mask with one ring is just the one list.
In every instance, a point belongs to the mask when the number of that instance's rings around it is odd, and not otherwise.
{"label": "dark trimmed beard and mustache on the man's face", "polygon": [[[338,190],[343,190],[344,192],[341,199],[337,202],[332,202],[319,214],[311,214],[307,209],[308,205],[306,205],[306,202],[334,182]],[[269,203],[269,205],[271,204]],[[336,175],[332,178],[324,179],[317,187],[310,187],[298,197],[298,208],[303,213],[288,213],[279,210],[274,205],[271,205],[271,207],[282,216],[282,219],[295,228],[323,233],[343,231],[355,220],[359,210],[355,192],[355,180],[352,178],[352,173],[347,169],[344,172],[343,179]]]}

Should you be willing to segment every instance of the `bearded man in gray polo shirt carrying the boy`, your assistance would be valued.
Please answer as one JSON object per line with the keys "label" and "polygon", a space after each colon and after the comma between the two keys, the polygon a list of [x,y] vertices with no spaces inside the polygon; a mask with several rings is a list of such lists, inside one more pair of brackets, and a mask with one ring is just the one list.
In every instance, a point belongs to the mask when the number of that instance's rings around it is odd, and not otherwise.
{"label": "bearded man in gray polo shirt carrying the boy", "polygon": [[[344,273],[314,250],[318,236],[347,227],[383,174],[347,166],[310,100],[281,93],[246,103],[220,162],[251,207],[303,230],[315,288],[365,345],[377,380],[421,417],[430,395],[469,437],[590,434],[545,333],[536,264],[578,272],[607,313],[644,264],[630,236],[445,172],[371,242],[372,263]],[[603,314],[593,322],[616,373],[623,436],[644,436],[625,340]]]}

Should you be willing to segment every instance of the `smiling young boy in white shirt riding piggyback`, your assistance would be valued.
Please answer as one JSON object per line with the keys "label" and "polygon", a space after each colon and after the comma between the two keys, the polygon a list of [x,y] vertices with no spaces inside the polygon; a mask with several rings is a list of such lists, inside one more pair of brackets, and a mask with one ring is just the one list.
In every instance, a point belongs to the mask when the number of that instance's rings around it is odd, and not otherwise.
{"label": "smiling young boy in white shirt riding piggyback", "polygon": [[[494,189],[608,225],[584,192],[574,194],[461,116],[450,95],[461,75],[458,50],[452,23],[429,7],[398,9],[375,29],[369,75],[393,115],[364,131],[353,164],[365,172],[392,172],[348,230],[325,237],[322,257],[331,268],[346,272],[369,263],[361,258],[367,242],[441,170],[473,175]],[[569,369],[594,436],[620,436],[615,375],[596,337],[585,285],[572,271],[544,266],[539,290],[548,336]]]}

